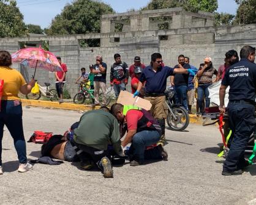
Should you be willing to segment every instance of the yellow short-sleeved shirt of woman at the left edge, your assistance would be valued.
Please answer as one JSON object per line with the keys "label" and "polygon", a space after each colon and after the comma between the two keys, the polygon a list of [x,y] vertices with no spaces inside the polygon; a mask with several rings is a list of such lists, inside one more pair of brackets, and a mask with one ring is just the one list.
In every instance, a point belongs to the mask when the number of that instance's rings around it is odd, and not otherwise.
{"label": "yellow short-sleeved shirt of woman at the left edge", "polygon": [[4,90],[2,92],[2,99],[16,100],[20,99],[18,93],[21,85],[26,84],[24,77],[19,71],[0,66],[0,79],[4,80]]}

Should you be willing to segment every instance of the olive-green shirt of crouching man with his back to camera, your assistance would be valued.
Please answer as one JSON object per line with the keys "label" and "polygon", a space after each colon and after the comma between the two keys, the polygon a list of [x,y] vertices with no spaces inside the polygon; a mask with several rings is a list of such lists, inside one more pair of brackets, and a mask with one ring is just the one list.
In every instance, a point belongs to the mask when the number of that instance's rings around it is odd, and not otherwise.
{"label": "olive-green shirt of crouching man with his back to camera", "polygon": [[74,140],[78,144],[107,150],[113,145],[116,153],[121,152],[119,124],[111,113],[104,110],[91,110],[80,118],[77,129],[74,130]]}

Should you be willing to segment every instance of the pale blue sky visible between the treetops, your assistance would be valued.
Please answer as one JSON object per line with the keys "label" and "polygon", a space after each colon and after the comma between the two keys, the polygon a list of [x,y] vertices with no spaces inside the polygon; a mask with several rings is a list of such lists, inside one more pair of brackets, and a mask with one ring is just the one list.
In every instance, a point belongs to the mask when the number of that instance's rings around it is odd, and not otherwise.
{"label": "pale blue sky visible between the treetops", "polygon": [[[148,4],[149,0],[102,0],[111,5],[118,13],[130,9],[140,9]],[[61,13],[61,10],[72,0],[17,0],[17,5],[24,15],[26,24],[37,24],[43,28],[50,26],[51,20]],[[237,5],[235,0],[218,0],[217,12],[236,13]]]}

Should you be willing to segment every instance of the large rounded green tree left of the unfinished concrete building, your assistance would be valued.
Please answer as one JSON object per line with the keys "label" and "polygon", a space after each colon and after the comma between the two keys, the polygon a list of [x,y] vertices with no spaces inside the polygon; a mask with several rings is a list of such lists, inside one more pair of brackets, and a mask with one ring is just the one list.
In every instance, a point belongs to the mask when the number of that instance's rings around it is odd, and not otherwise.
{"label": "large rounded green tree left of the unfinished concrete building", "polygon": [[45,32],[49,35],[100,32],[100,15],[107,13],[114,13],[114,10],[103,2],[75,0],[55,16]]}

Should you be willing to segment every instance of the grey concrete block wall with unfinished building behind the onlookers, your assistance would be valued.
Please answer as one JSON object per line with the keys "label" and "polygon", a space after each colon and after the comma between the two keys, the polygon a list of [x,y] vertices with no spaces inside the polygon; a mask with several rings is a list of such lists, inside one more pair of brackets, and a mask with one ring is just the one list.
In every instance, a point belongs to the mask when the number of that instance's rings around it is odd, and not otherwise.
{"label": "grey concrete block wall with unfinished building behind the onlookers", "polygon": [[[127,19],[126,15],[129,16],[132,31],[111,32],[110,19],[115,17],[114,20],[124,20]],[[170,15],[173,18],[170,29],[152,31],[148,27],[150,16]],[[141,21],[141,27],[139,21]],[[121,54],[122,61],[127,65],[134,62],[134,56],[140,56],[141,61],[149,65],[151,54],[160,52],[165,65],[170,67],[178,63],[179,54],[190,57],[190,63],[195,67],[198,67],[206,56],[210,56],[214,67],[218,68],[224,63],[225,52],[229,49],[236,49],[239,52],[244,45],[256,45],[256,24],[213,27],[213,16],[209,13],[189,13],[177,8],[103,15],[101,26],[100,34],[0,38],[0,49],[6,49],[12,53],[19,49],[19,41],[48,40],[50,51],[56,56],[61,56],[62,62],[67,64],[65,88],[73,96],[78,91],[78,85],[74,84],[74,81],[80,74],[80,68],[85,67],[89,70],[89,64],[96,62],[97,54],[102,55],[104,62],[107,63],[107,86],[109,86],[110,67],[114,62],[115,53]],[[168,35],[168,40],[159,40],[160,35]],[[100,38],[101,46],[80,48],[78,40],[89,38]],[[112,42],[113,38],[119,38],[120,41]],[[18,64],[13,64],[13,68],[20,70]],[[34,70],[22,68],[21,73],[29,80]],[[40,84],[50,82],[52,87],[55,87],[54,73],[38,70],[36,77]]]}

